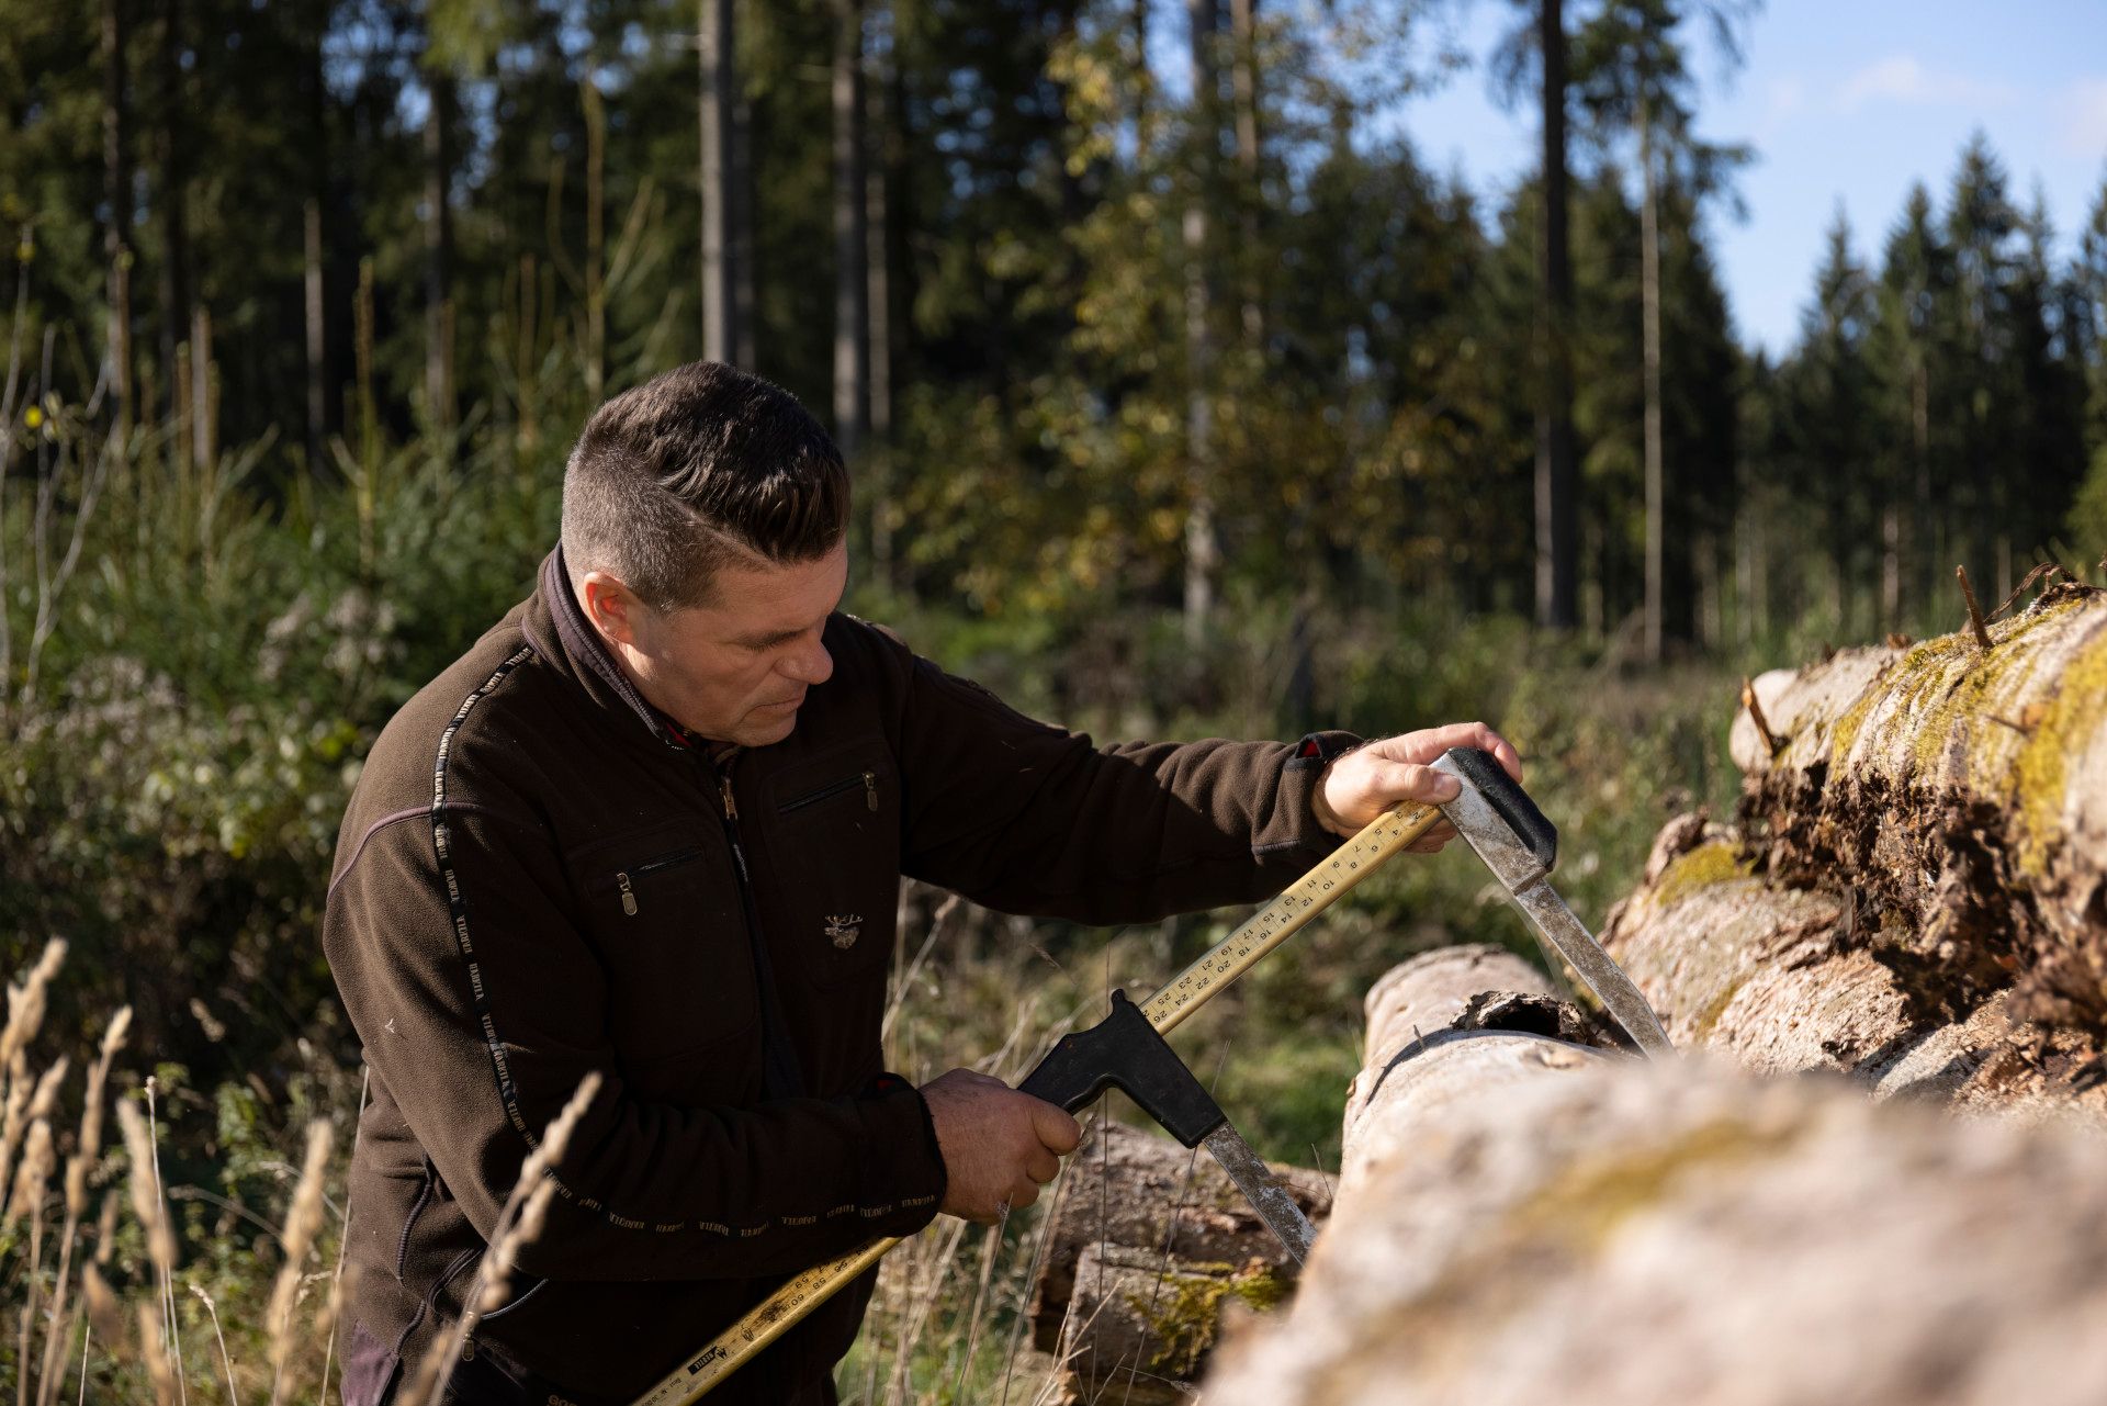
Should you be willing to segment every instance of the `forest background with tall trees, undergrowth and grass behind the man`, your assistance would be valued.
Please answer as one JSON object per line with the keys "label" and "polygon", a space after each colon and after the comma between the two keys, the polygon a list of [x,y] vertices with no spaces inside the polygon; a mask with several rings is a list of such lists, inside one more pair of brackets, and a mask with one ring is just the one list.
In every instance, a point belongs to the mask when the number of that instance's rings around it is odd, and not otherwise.
{"label": "forest background with tall trees, undergrowth and grass behind the man", "polygon": [[[1732,805],[1745,675],[1957,628],[1955,567],[1993,620],[2101,582],[2107,167],[2059,232],[1976,137],[1749,352],[1715,247],[1761,154],[1700,74],[1761,23],[0,0],[0,1381],[337,1400],[337,822],[531,588],[584,419],[678,363],[828,424],[860,616],[1104,742],[1483,717],[1591,923]],[[1542,133],[1490,194],[1410,105],[1488,80]],[[1483,883],[1401,864],[1193,1022],[1262,1153],[1338,1164],[1374,974],[1528,951]],[[889,1067],[1007,1079],[1241,917],[902,915]],[[843,1400],[1032,1400],[1030,1233],[887,1261]]]}

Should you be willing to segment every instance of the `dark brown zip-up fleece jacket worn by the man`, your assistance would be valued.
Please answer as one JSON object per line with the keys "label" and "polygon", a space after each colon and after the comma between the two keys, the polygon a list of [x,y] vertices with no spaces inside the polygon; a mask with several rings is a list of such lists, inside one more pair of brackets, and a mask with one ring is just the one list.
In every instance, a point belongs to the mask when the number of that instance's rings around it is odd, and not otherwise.
{"label": "dark brown zip-up fleece jacket worn by the man", "polygon": [[[782,1277],[921,1229],[944,1164],[879,1054],[900,875],[1136,923],[1262,898],[1336,843],[1311,790],[1340,734],[1094,748],[855,618],[824,641],[796,729],[712,759],[550,554],[373,746],[322,930],[373,1071],[350,1227],[369,1358],[415,1362],[459,1313],[590,1071],[548,1225],[476,1332],[563,1398],[628,1400]],[[860,1288],[714,1400],[826,1400]],[[352,1406],[381,1391],[386,1368],[348,1383]]]}

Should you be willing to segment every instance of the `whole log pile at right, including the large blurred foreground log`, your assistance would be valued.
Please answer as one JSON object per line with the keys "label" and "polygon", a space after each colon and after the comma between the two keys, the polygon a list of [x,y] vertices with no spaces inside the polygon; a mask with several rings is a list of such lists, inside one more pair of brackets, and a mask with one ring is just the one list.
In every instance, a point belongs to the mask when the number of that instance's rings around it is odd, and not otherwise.
{"label": "whole log pile at right, including the large blurred foreground log", "polygon": [[1490,953],[1372,991],[1334,1229],[1205,1400],[2107,1400],[2107,597],[1985,634],[1749,689],[1736,822],[1608,925],[1686,1060],[1460,1029],[1536,991]]}

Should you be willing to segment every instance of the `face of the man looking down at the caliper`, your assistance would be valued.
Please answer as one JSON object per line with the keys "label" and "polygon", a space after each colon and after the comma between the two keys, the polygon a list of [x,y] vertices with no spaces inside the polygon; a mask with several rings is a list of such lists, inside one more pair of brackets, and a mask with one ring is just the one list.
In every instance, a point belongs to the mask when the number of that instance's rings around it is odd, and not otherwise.
{"label": "face of the man looking down at the caliper", "polygon": [[584,580],[592,620],[655,708],[689,731],[740,746],[782,742],[805,689],[826,683],[834,660],[820,643],[849,582],[849,548],[788,567],[727,565],[710,599],[653,611],[613,578]]}

